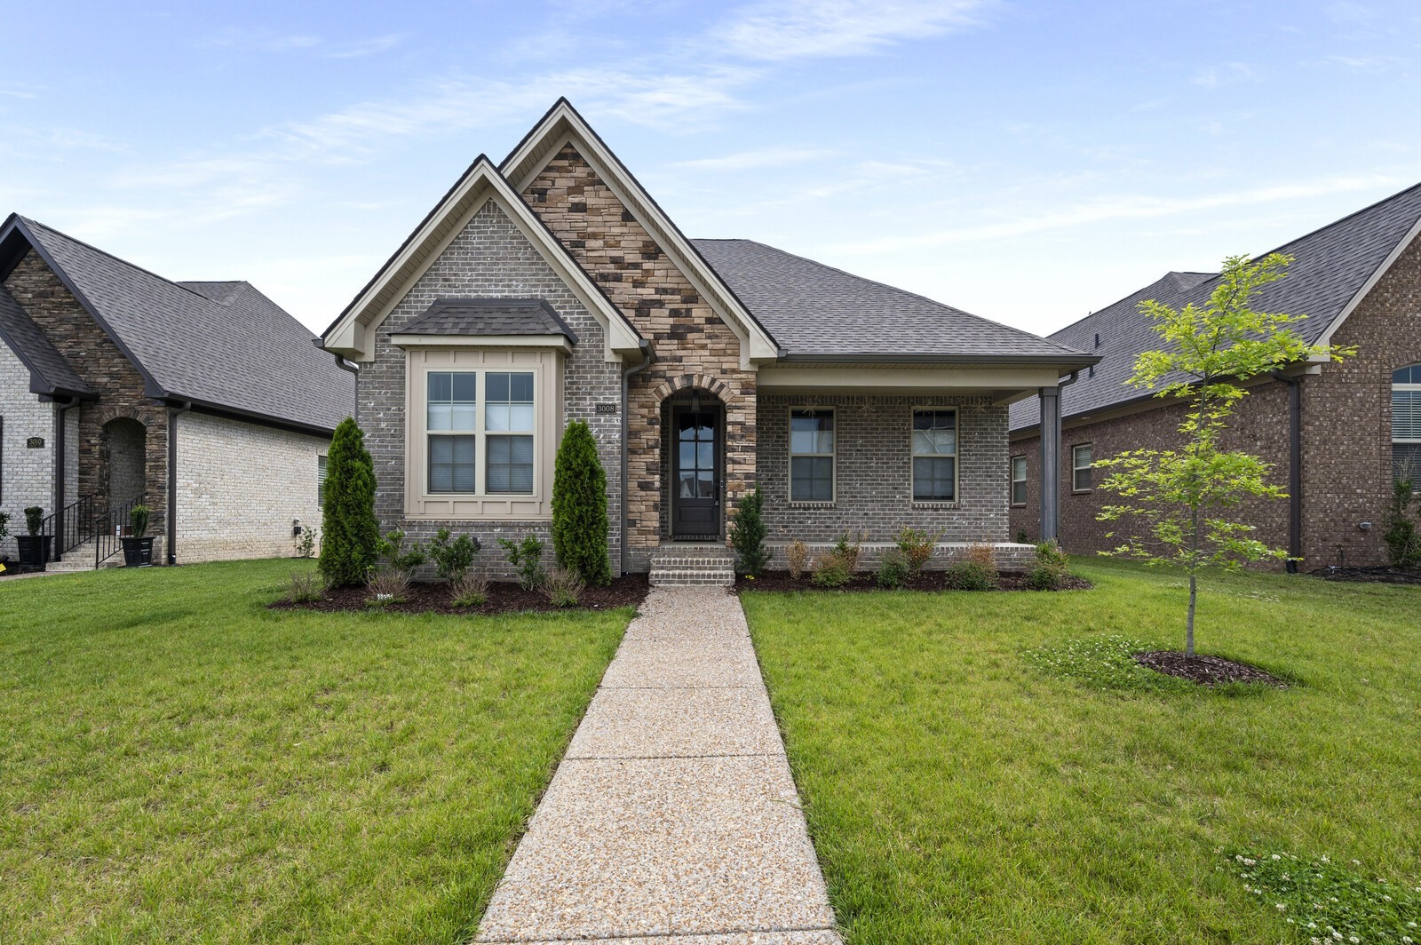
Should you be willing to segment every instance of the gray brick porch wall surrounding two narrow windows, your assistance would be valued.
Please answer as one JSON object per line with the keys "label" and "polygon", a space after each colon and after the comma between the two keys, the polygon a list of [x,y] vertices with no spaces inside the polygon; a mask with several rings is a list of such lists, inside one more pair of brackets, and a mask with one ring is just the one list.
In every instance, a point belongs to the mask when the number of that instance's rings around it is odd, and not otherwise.
{"label": "gray brick porch wall surrounding two narrow windows", "polygon": [[[789,411],[833,406],[834,502],[791,504]],[[958,500],[912,500],[912,409],[958,408]],[[833,541],[867,531],[891,541],[904,526],[942,533],[944,543],[1006,541],[1006,408],[976,396],[784,395],[759,398],[759,477],[772,541]]]}

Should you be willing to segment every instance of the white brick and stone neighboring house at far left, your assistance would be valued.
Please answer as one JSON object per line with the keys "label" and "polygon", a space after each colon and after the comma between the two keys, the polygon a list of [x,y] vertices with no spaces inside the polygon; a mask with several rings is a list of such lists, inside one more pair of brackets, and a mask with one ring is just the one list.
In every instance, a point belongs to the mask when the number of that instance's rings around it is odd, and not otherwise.
{"label": "white brick and stone neighboring house at far left", "polygon": [[136,502],[155,561],[290,554],[354,392],[247,283],[172,283],[21,216],[0,227],[0,509],[16,533],[41,506],[61,567],[92,567]]}

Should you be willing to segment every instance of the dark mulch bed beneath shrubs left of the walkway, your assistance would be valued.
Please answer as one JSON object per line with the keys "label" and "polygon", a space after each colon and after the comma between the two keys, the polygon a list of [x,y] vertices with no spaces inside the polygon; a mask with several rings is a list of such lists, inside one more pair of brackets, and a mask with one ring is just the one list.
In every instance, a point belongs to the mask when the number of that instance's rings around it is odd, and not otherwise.
{"label": "dark mulch bed beneath shrubs left of the walkway", "polygon": [[483,607],[455,607],[449,603],[450,590],[443,581],[416,581],[405,593],[404,604],[381,604],[371,607],[374,591],[368,587],[337,587],[325,591],[321,600],[308,604],[276,601],[271,610],[314,610],[314,611],[387,611],[391,614],[460,614],[465,617],[487,614],[513,614],[526,611],[571,612],[578,610],[615,610],[618,607],[639,607],[647,597],[647,576],[625,574],[614,578],[607,587],[588,587],[577,595],[577,607],[553,607],[543,591],[526,591],[512,581],[489,584],[489,600]]}

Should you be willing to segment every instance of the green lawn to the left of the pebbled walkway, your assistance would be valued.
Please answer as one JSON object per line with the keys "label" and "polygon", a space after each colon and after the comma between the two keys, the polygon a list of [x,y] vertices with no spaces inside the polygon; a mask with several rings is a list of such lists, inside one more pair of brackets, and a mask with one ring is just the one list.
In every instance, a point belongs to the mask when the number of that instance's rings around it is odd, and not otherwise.
{"label": "green lawn to the left of the pebbled walkway", "polygon": [[631,612],[266,610],[297,567],[0,583],[0,941],[472,934]]}

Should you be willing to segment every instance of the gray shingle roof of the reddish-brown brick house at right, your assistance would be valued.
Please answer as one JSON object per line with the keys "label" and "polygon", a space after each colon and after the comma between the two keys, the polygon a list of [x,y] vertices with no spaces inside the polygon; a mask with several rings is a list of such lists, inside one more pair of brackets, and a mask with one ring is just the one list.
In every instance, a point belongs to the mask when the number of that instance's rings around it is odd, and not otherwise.
{"label": "gray shingle roof of the reddish-brown brick house at right", "polygon": [[[1307,315],[1295,331],[1309,344],[1327,344],[1418,232],[1421,183],[1270,250],[1293,256],[1295,261],[1285,279],[1255,296],[1253,304],[1260,311]],[[1061,389],[1061,416],[1096,414],[1148,398],[1148,391],[1125,387],[1135,358],[1160,344],[1152,321],[1140,313],[1140,303],[1152,298],[1174,308],[1204,304],[1218,279],[1218,273],[1167,273],[1049,335],[1059,344],[1101,355],[1093,374],[1081,374]],[[1039,422],[1037,398],[1012,405],[1013,431]]]}

